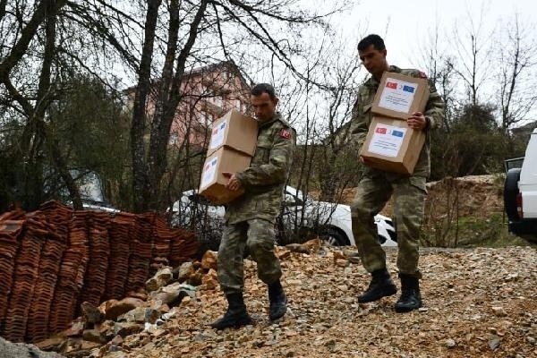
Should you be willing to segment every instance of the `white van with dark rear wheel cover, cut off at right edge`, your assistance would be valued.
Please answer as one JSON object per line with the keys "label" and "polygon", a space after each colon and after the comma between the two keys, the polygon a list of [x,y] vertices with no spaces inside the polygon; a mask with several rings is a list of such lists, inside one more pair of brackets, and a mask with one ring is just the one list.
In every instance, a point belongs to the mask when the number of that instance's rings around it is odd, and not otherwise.
{"label": "white van with dark rear wheel cover, cut off at right edge", "polygon": [[504,187],[509,232],[537,242],[537,129],[520,159],[522,167],[508,169]]}

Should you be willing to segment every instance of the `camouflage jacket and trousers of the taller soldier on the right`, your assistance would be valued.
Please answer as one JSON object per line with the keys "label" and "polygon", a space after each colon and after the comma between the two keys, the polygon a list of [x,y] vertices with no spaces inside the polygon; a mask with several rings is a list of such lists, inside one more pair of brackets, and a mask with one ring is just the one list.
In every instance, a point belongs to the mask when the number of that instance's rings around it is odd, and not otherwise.
{"label": "camouflage jacket and trousers of the taller soldier on the right", "polygon": [[[397,72],[412,77],[424,77],[417,70],[402,70],[390,66],[388,72]],[[353,108],[351,133],[353,141],[362,147],[371,124],[371,103],[379,81],[372,77],[360,87],[358,98]],[[386,253],[380,247],[377,228],[373,217],[384,208],[390,196],[394,197],[394,222],[396,224],[397,268],[399,272],[413,277],[421,277],[418,270],[419,234],[422,226],[424,200],[427,194],[426,178],[430,175],[430,136],[429,130],[441,125],[444,117],[444,102],[430,82],[430,96],[425,111],[427,119],[427,140],[423,145],[420,158],[413,175],[390,173],[366,167],[358,184],[358,192],[351,206],[354,240],[363,267],[369,272],[386,268]]]}

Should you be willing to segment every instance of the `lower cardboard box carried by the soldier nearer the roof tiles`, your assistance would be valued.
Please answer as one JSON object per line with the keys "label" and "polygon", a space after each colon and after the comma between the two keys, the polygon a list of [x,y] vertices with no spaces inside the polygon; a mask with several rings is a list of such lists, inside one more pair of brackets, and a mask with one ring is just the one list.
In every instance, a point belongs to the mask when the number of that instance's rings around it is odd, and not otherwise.
{"label": "lower cardboard box carried by the soldier nearer the roof tiles", "polygon": [[231,148],[220,147],[205,159],[201,171],[200,194],[215,204],[225,204],[241,196],[243,191],[226,189],[228,178],[223,172],[235,173],[250,166],[251,157]]}

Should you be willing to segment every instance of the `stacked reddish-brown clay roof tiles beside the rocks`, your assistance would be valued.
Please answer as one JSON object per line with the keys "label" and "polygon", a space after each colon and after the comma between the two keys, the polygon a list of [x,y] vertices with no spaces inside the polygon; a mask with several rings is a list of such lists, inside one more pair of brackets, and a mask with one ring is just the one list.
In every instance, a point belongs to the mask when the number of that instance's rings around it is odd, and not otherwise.
{"label": "stacked reddish-brown clay roof tiles beside the rocks", "polygon": [[195,235],[157,214],[73,211],[56,201],[0,216],[0,336],[35,342],[81,303],[144,294],[152,273],[197,253]]}

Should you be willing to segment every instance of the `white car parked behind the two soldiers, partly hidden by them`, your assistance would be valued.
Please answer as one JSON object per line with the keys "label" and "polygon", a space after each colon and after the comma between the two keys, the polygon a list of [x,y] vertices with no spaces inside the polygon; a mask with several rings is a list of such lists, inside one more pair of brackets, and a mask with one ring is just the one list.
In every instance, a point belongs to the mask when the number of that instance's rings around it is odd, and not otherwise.
{"label": "white car parked behind the two soldiers, partly hidden by them", "polygon": [[[225,208],[203,198],[197,191],[183,192],[172,207],[172,226],[190,226],[200,239],[217,249],[222,234]],[[375,216],[379,241],[396,246],[396,230],[390,218]],[[336,246],[354,245],[351,209],[348,205],[305,199],[303,192],[286,186],[282,212],[277,220],[279,244],[303,242],[319,236]]]}

